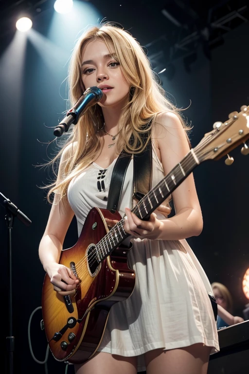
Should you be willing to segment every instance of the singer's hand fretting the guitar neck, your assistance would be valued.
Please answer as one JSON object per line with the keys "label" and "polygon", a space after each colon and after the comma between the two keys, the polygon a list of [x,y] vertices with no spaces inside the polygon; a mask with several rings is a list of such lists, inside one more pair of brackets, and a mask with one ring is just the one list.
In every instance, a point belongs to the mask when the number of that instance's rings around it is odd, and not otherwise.
{"label": "singer's hand fretting the guitar neck", "polygon": [[136,214],[132,213],[130,208],[125,208],[125,231],[134,238],[140,239],[158,239],[162,230],[163,223],[157,219],[155,213],[150,215],[149,221],[140,220]]}

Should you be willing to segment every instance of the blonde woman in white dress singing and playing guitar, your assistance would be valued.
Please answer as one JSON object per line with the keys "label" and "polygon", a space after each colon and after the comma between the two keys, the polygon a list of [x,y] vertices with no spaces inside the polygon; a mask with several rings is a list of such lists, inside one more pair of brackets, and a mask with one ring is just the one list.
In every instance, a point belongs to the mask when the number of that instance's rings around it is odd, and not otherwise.
{"label": "blonde woman in white dress singing and playing guitar", "polygon": [[[78,284],[71,270],[58,263],[68,227],[76,215],[80,234],[89,209],[107,207],[119,153],[141,152],[139,133],[151,120],[147,131],[153,144],[154,187],[190,150],[188,129],[177,108],[164,97],[140,44],[123,29],[111,24],[90,28],[74,48],[69,83],[71,104],[93,86],[102,89],[106,100],[74,126],[57,156],[58,177],[48,194],[55,196],[39,257],[54,292],[61,295],[70,295]],[[136,273],[135,289],[112,306],[97,354],[75,365],[75,373],[205,374],[219,345],[208,296],[211,284],[185,240],[202,231],[193,175],[172,194],[173,217],[166,218],[166,202],[149,221],[141,221],[130,210],[135,204],[132,163],[119,212],[133,243],[128,263]],[[97,183],[99,174],[104,184]]]}

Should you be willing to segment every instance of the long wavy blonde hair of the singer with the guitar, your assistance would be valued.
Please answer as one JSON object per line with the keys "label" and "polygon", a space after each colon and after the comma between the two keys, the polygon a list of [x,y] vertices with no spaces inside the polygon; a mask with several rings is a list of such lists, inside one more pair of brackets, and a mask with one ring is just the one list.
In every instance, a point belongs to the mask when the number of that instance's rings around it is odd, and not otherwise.
{"label": "long wavy blonde hair of the singer with the guitar", "polygon": [[[184,129],[189,130],[184,123],[179,110],[166,97],[162,87],[157,83],[156,75],[151,69],[150,62],[141,45],[127,31],[109,22],[100,27],[91,27],[77,41],[69,65],[69,92],[71,105],[84,93],[82,82],[82,51],[89,41],[100,39],[107,47],[114,48],[115,58],[120,63],[120,68],[125,79],[130,83],[131,90],[128,103],[123,109],[122,118],[124,126],[121,127],[121,136],[118,138],[117,153],[122,149],[127,152],[142,152],[146,144],[143,144],[139,133],[149,131],[153,126],[153,119],[160,112],[174,112],[180,118]],[[152,118],[150,126],[144,130],[148,119]],[[104,117],[98,104],[90,107],[82,115],[67,142],[62,146],[58,154],[48,165],[53,165],[61,159],[63,151],[67,147],[67,156],[63,161],[63,178],[54,182],[48,192],[48,200],[52,193],[59,196],[58,201],[67,194],[71,180],[87,168],[100,154],[103,142],[99,130],[104,125]],[[134,142],[129,144],[130,136]],[[151,135],[150,135],[151,136]],[[150,136],[147,137],[149,141]],[[53,168],[54,169],[54,168]]]}

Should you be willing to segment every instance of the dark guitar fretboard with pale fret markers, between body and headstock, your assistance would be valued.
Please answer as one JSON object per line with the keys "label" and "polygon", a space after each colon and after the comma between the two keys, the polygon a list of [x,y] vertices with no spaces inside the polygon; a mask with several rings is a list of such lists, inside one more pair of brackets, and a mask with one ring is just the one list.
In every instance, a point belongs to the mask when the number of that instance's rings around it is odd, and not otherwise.
{"label": "dark guitar fretboard with pale fret markers, between body and headstock", "polygon": [[[141,220],[148,220],[151,213],[157,209],[164,200],[192,173],[200,164],[195,150],[190,150],[154,188],[152,188],[139,203],[132,209]],[[96,245],[99,262],[102,262],[117,248],[128,236],[124,230],[124,218],[113,226],[107,235]]]}

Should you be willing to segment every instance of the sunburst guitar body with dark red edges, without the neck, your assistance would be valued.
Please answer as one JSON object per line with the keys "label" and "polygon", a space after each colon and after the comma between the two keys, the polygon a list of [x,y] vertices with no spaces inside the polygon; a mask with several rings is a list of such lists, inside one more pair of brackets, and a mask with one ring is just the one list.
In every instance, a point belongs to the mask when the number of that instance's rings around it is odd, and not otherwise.
{"label": "sunburst guitar body with dark red edges, without the neck", "polygon": [[77,243],[61,252],[59,263],[71,268],[80,283],[75,295],[63,297],[45,275],[42,315],[54,358],[84,363],[97,351],[110,308],[127,299],[135,286],[135,273],[127,265],[129,248],[118,247],[101,263],[92,255],[94,244],[107,234],[105,218],[120,220],[119,213],[92,208]]}

